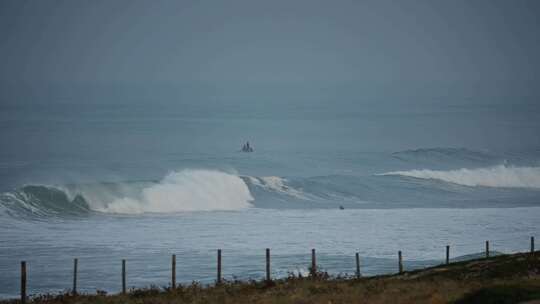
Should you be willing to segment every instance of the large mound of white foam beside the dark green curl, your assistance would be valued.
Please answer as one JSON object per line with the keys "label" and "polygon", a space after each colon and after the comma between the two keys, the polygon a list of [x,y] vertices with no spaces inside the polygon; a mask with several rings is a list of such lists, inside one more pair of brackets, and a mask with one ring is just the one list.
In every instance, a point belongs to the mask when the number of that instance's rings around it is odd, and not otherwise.
{"label": "large mound of white foam beside the dark green curl", "polygon": [[99,208],[111,213],[240,210],[253,201],[244,181],[233,174],[209,170],[172,172],[137,197],[116,198]]}

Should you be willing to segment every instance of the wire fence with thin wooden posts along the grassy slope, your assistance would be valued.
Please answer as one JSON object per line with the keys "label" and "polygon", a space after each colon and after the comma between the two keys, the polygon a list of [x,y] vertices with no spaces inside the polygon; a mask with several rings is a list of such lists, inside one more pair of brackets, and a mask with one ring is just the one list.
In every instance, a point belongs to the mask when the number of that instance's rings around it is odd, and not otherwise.
{"label": "wire fence with thin wooden posts along the grassy slope", "polygon": [[[408,255],[408,252],[418,252],[419,250],[430,252],[430,254],[420,259]],[[211,285],[220,284],[224,280],[275,280],[288,276],[310,277],[320,273],[352,279],[361,276],[401,273],[446,263],[523,252],[535,252],[534,237],[492,239],[484,243],[449,242],[442,243],[440,247],[424,246],[414,249],[405,246],[394,253],[384,252],[376,257],[366,256],[362,252],[335,254],[318,252],[316,249],[312,249],[311,253],[306,250],[306,254],[273,255],[271,248],[267,248],[261,250],[260,256],[242,256],[235,260],[232,255],[227,254],[226,250],[221,249],[218,249],[213,257],[210,255],[169,255],[164,250],[159,249],[154,251],[162,257],[157,264],[146,263],[143,256],[133,256],[130,259],[111,261],[110,267],[118,268],[117,284],[113,285],[121,286],[121,289],[118,288],[116,292],[126,293],[130,288],[148,287],[152,284],[175,288],[178,284],[192,281]],[[169,259],[165,259],[166,256]],[[66,262],[61,267],[60,272],[59,269],[50,269],[47,264],[40,264],[36,261],[29,264],[27,261],[21,261],[21,302],[26,303],[30,295],[29,287],[32,288],[31,285],[37,283],[29,276],[32,274],[32,269],[38,269],[41,273],[50,273],[47,280],[65,282],[64,292],[73,294],[81,291],[89,292],[90,290],[98,292],[99,282],[107,281],[107,278],[104,275],[99,275],[99,269],[91,267],[96,259],[96,257],[91,256],[74,258],[71,263]],[[229,262],[231,264],[227,265]],[[194,272],[192,265],[197,265],[199,271]],[[109,272],[101,272],[110,273],[110,270]],[[212,272],[214,272],[213,279],[209,276]],[[130,275],[131,273],[134,275]],[[145,275],[137,275],[141,273]],[[187,278],[186,274],[188,273],[192,275],[192,278]],[[106,276],[109,276],[110,280],[110,275],[106,274]],[[93,277],[94,280],[83,279],[81,281],[81,278],[89,277]],[[149,282],[153,283],[148,284]],[[47,290],[47,282],[42,282],[42,284],[41,288],[33,289],[36,294]],[[13,291],[11,295],[15,292]]]}

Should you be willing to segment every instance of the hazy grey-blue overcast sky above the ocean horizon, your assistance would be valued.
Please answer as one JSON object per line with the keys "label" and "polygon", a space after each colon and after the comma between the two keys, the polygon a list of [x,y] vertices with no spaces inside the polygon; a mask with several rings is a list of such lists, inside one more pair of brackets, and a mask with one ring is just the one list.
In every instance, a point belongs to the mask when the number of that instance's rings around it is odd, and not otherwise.
{"label": "hazy grey-blue overcast sky above the ocean horizon", "polygon": [[21,86],[538,96],[538,54],[535,0],[0,1],[11,97]]}

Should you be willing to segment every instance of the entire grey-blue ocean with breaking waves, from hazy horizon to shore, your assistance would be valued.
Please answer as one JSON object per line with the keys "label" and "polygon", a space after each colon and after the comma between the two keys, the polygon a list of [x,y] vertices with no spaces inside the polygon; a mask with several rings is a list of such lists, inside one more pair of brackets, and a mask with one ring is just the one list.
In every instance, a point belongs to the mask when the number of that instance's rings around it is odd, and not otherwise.
{"label": "entire grey-blue ocean with breaking waves, from hazy horizon to shore", "polygon": [[[264,99],[263,99],[264,101]],[[462,102],[0,106],[0,298],[71,288],[364,275],[540,235],[540,108]],[[397,106],[396,106],[397,104]],[[254,152],[241,152],[249,141]]]}

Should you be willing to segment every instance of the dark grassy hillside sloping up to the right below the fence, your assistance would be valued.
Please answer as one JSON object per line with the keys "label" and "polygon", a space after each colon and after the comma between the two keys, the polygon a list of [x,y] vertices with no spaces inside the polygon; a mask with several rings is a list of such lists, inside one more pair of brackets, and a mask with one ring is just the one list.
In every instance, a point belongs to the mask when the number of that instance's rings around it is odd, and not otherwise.
{"label": "dark grassy hillside sloping up to the right below the fence", "polygon": [[[58,295],[35,303],[522,303],[540,300],[540,253],[502,255],[361,279],[289,277],[274,282],[148,288],[127,295]],[[15,303],[4,301],[0,303]],[[534,301],[533,301],[534,302]],[[540,303],[540,302],[539,302]]]}

